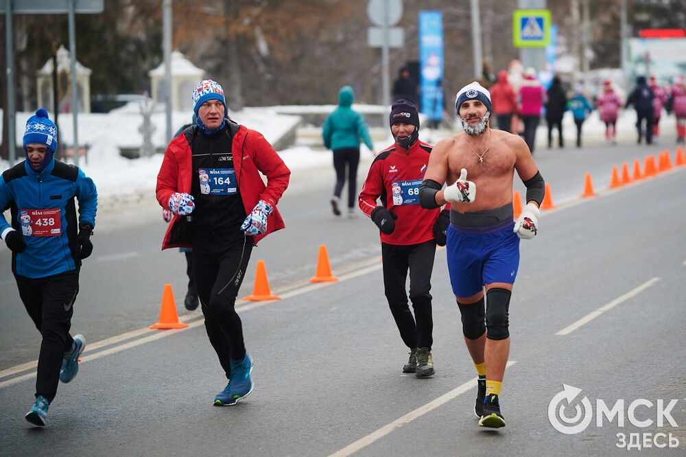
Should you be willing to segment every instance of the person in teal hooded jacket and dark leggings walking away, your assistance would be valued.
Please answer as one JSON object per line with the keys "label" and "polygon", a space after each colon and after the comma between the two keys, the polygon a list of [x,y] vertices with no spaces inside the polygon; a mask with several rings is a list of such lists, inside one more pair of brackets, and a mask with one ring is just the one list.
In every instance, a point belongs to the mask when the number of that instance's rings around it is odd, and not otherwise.
{"label": "person in teal hooded jacket and dark leggings walking away", "polygon": [[357,200],[357,165],[359,164],[359,143],[364,141],[372,152],[374,144],[369,136],[364,117],[351,108],[353,88],[343,86],[338,91],[338,108],[324,121],[324,146],[333,151],[333,167],[336,170],[336,185],[333,187],[331,207],[340,215],[340,197],[348,172],[348,217],[355,217]]}

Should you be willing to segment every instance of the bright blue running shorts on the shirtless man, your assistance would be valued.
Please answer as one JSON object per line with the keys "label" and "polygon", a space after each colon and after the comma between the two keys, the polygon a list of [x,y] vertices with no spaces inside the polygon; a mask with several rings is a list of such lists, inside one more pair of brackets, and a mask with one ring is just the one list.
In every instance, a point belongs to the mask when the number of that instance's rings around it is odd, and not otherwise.
{"label": "bright blue running shorts on the shirtless man", "polygon": [[484,284],[514,283],[519,269],[519,237],[514,222],[458,228],[450,224],[445,251],[455,296],[480,292]]}

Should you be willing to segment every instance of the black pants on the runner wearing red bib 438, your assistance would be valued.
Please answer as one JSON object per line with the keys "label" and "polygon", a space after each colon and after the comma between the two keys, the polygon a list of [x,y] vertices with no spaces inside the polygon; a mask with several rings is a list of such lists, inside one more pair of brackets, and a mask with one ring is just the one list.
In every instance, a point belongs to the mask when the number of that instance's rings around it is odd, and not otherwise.
{"label": "black pants on the runner wearing red bib 438", "polygon": [[14,275],[26,312],[43,336],[38,354],[36,397],[52,402],[60,382],[64,353],[71,351],[74,340],[69,335],[74,302],[79,292],[79,270],[45,278]]}

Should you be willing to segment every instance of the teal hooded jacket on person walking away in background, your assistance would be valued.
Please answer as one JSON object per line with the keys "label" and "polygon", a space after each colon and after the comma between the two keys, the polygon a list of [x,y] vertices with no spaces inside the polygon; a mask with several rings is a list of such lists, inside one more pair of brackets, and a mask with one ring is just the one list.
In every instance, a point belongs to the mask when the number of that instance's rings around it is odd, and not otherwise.
{"label": "teal hooded jacket on person walking away in background", "polygon": [[338,91],[338,108],[324,121],[324,146],[330,150],[359,148],[360,141],[364,141],[367,148],[374,150],[374,143],[369,136],[364,117],[351,108],[354,95],[351,86],[343,86]]}

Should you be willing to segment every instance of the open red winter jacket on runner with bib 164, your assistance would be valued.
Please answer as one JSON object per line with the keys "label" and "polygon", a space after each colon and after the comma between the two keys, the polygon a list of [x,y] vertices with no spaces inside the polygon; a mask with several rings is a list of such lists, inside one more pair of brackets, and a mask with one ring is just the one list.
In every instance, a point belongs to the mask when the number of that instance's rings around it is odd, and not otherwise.
{"label": "open red winter jacket on runner with bib 164", "polygon": [[[257,242],[263,237],[284,227],[276,203],[288,186],[291,172],[261,133],[233,122],[229,128],[237,129],[233,134],[231,154],[236,176],[239,177],[241,199],[246,214],[250,214],[259,200],[264,200],[274,207],[274,212],[267,219],[267,232],[253,237],[253,242],[257,246]],[[169,209],[169,197],[174,192],[191,193],[192,172],[191,147],[186,135],[179,134],[167,146],[165,158],[157,175],[157,201],[163,208]],[[267,176],[266,186],[260,172]],[[192,247],[191,241],[184,236],[185,231],[180,228],[178,222],[179,215],[174,215],[162,242],[163,249]]]}

